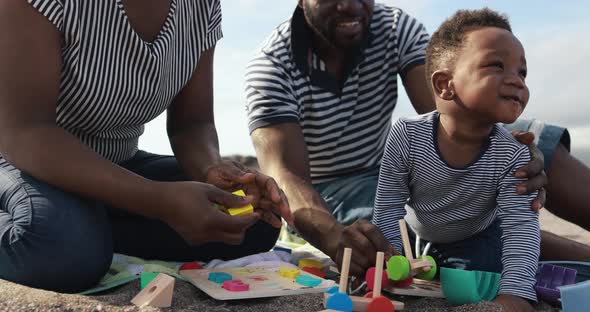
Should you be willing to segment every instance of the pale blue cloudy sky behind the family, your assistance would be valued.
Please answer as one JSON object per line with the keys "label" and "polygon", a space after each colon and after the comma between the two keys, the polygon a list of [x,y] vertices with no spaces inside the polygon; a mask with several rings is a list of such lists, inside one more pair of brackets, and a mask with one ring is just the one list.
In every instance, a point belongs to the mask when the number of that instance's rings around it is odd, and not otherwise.
{"label": "pale blue cloudy sky behind the family", "polygon": [[[458,9],[489,7],[506,13],[522,42],[531,97],[523,117],[567,127],[572,153],[590,166],[590,3],[586,0],[376,0],[399,7],[421,21],[429,33]],[[245,112],[246,63],[266,37],[290,18],[297,0],[221,0],[224,38],[214,64],[215,123],[222,155],[254,155]],[[414,112],[399,84],[394,119]],[[146,126],[140,148],[171,154],[165,116]]]}

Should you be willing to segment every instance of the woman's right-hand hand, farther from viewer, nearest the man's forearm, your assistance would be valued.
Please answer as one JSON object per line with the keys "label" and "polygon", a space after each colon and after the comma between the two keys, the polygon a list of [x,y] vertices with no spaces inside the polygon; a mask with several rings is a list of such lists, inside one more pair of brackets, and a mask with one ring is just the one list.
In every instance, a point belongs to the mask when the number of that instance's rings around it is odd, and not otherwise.
{"label": "woman's right-hand hand, farther from viewer, nearest the man's forearm", "polygon": [[289,224],[293,222],[285,193],[269,176],[238,162],[224,160],[207,169],[206,181],[228,191],[244,190],[246,195],[253,197],[252,205],[260,213],[261,219],[276,228],[282,225],[276,215],[283,217]]}

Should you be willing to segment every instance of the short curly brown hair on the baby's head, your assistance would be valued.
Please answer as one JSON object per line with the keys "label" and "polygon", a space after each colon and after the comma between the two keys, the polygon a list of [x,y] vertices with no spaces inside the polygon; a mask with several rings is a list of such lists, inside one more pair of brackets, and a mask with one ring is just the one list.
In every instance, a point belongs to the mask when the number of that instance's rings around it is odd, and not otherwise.
{"label": "short curly brown hair on the baby's head", "polygon": [[[512,32],[508,17],[489,8],[459,10],[444,21],[432,34],[426,47],[426,81],[430,81],[432,73],[438,69],[453,68],[465,34],[483,27],[497,27]],[[430,86],[430,83],[428,85]]]}

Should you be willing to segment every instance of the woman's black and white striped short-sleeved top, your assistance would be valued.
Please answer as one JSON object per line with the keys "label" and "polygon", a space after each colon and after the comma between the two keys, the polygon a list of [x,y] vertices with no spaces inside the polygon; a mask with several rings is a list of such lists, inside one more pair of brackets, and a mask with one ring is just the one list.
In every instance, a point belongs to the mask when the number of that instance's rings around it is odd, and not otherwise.
{"label": "woman's black and white striped short-sleeved top", "polygon": [[222,36],[219,0],[172,0],[153,42],[133,30],[121,1],[28,0],[62,33],[57,124],[117,163],[135,155],[144,124]]}

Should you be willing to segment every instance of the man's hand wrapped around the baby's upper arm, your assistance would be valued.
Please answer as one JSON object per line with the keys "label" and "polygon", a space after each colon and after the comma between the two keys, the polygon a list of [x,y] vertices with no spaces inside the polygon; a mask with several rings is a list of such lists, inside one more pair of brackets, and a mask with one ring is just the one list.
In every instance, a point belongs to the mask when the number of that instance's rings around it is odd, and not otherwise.
{"label": "man's hand wrapped around the baby's upper arm", "polygon": [[516,186],[516,192],[518,194],[530,194],[534,191],[539,191],[539,195],[532,203],[532,209],[538,211],[545,205],[545,185],[547,185],[547,175],[543,170],[545,161],[543,153],[537,148],[533,141],[535,135],[531,132],[523,131],[512,131],[512,135],[516,140],[522,144],[529,146],[531,151],[532,159],[524,167],[519,168],[515,176],[517,178],[528,178],[526,182],[523,182]]}

